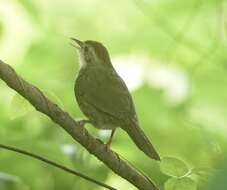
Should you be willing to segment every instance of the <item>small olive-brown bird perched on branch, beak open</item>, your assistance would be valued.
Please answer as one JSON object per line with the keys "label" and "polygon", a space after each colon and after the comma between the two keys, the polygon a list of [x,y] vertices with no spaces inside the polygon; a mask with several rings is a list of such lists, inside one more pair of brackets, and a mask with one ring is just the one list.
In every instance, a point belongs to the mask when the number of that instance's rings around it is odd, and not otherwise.
{"label": "small olive-brown bird perched on branch, beak open", "polygon": [[114,69],[107,48],[97,41],[71,40],[80,57],[74,93],[80,110],[88,118],[84,123],[111,130],[107,147],[120,127],[141,151],[159,161],[158,152],[140,128],[132,96]]}

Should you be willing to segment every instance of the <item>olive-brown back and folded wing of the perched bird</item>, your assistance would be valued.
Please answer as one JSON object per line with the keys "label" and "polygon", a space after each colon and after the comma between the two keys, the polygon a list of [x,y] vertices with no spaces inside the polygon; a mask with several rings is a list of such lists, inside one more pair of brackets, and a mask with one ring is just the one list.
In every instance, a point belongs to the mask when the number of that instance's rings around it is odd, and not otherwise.
{"label": "olive-brown back and folded wing of the perched bird", "polygon": [[86,68],[86,76],[80,80],[82,101],[118,119],[135,116],[128,88],[114,70]]}

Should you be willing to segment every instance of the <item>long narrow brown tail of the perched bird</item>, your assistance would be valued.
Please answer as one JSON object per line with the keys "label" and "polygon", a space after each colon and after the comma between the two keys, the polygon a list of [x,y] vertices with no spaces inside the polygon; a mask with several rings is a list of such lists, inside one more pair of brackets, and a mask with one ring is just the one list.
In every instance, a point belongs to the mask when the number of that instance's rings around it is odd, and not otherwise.
{"label": "long narrow brown tail of the perched bird", "polygon": [[[133,122],[134,123],[134,122]],[[124,127],[124,130],[131,137],[136,146],[142,150],[147,156],[152,159],[160,160],[160,156],[157,151],[142,131],[142,129],[138,126],[138,124],[134,123]]]}

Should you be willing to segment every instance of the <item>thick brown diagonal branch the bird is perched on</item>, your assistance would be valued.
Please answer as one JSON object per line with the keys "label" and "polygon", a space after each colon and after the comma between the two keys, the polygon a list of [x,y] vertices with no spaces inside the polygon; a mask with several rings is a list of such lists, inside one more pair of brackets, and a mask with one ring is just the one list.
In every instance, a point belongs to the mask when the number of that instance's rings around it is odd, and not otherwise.
{"label": "thick brown diagonal branch the bird is perched on", "polygon": [[6,84],[26,98],[41,113],[47,115],[55,123],[65,129],[74,140],[79,142],[87,151],[96,156],[113,172],[129,181],[140,190],[158,190],[156,185],[145,175],[120,159],[117,153],[106,149],[103,142],[95,139],[88,131],[49,100],[34,85],[20,77],[14,69],[0,60],[0,78]]}

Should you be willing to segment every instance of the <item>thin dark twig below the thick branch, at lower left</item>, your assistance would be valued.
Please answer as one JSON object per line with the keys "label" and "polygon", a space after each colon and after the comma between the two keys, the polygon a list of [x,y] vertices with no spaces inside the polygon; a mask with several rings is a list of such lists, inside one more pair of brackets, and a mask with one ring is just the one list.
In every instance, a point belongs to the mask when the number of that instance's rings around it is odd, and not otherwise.
{"label": "thin dark twig below the thick branch, at lower left", "polygon": [[110,187],[109,185],[106,185],[104,183],[101,183],[99,181],[96,181],[96,180],[94,180],[94,179],[92,179],[92,178],[90,178],[90,177],[88,177],[88,176],[86,176],[84,174],[81,174],[81,173],[79,173],[79,172],[77,172],[75,170],[72,170],[70,168],[67,168],[67,167],[65,167],[65,166],[63,166],[61,164],[58,164],[56,162],[53,162],[51,160],[48,160],[48,159],[46,159],[44,157],[41,157],[41,156],[36,155],[36,154],[33,154],[31,152],[28,152],[28,151],[25,151],[25,150],[22,150],[22,149],[19,149],[19,148],[16,148],[16,147],[3,145],[3,144],[0,144],[0,148],[7,149],[7,150],[10,150],[10,151],[13,151],[13,152],[17,152],[17,153],[20,153],[20,154],[23,154],[23,155],[26,155],[26,156],[30,156],[32,158],[35,158],[36,160],[40,160],[42,162],[46,162],[47,164],[50,164],[50,165],[52,165],[52,166],[54,166],[56,168],[62,169],[64,171],[68,172],[68,173],[71,173],[73,175],[79,176],[79,177],[81,177],[83,179],[86,179],[86,180],[88,180],[88,181],[90,181],[92,183],[95,183],[95,184],[100,185],[102,187],[105,187],[107,189],[116,190],[115,188]]}

